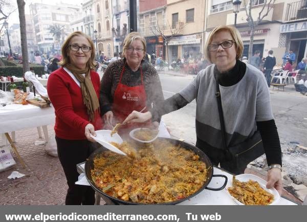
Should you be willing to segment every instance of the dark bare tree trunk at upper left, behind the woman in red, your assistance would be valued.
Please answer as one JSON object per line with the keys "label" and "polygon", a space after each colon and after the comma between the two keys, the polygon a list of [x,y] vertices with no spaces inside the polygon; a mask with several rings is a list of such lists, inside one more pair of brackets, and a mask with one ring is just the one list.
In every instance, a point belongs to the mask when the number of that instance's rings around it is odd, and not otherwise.
{"label": "dark bare tree trunk at upper left, behind the woman in red", "polygon": [[23,54],[23,69],[24,73],[30,71],[29,56],[28,56],[28,43],[27,43],[27,30],[26,30],[26,15],[25,15],[25,1],[17,0],[19,23],[20,23],[20,41],[21,53]]}

